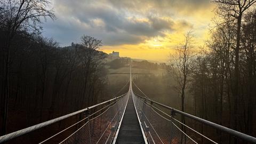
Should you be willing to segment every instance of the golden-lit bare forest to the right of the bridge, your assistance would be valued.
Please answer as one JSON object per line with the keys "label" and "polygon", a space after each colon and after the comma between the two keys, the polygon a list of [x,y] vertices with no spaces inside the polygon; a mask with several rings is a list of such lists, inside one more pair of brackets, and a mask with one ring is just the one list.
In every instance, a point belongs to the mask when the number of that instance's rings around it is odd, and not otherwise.
{"label": "golden-lit bare forest to the right of the bridge", "polygon": [[[196,46],[193,30],[188,31],[184,42],[170,54],[169,67],[166,68],[169,73],[158,77],[140,76],[135,82],[143,87],[142,90],[150,98],[255,137],[255,1],[214,3],[218,19],[213,21],[210,39],[205,46]],[[147,79],[146,85],[143,79]],[[159,87],[156,88],[155,84]],[[178,105],[174,100],[177,98]],[[185,119],[198,131],[215,135],[214,139],[219,143],[244,143],[226,133],[181,117],[183,123]],[[186,131],[185,127],[182,128]],[[207,140],[199,139],[201,143],[207,143]]]}

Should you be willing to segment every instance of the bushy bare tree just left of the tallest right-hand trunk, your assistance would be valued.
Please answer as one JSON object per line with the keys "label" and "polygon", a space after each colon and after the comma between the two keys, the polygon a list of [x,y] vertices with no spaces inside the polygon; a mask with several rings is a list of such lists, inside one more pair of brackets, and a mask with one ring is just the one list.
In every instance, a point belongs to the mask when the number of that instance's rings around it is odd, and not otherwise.
{"label": "bushy bare tree just left of the tallest right-hand trunk", "polygon": [[[215,99],[215,117],[216,122],[222,125],[223,104],[228,103],[229,116],[231,116],[231,102],[230,102],[230,63],[233,61],[232,49],[235,47],[235,31],[231,28],[230,22],[225,23],[221,27],[217,27],[212,31],[211,39],[207,41],[209,47],[209,68],[212,75],[211,85],[214,91]],[[226,89],[226,90],[225,90]],[[225,96],[227,95],[227,98]],[[227,99],[227,101],[225,101]],[[229,124],[230,124],[229,118]],[[229,125],[230,126],[230,125]],[[221,131],[217,131],[219,135],[219,142],[221,143]]]}

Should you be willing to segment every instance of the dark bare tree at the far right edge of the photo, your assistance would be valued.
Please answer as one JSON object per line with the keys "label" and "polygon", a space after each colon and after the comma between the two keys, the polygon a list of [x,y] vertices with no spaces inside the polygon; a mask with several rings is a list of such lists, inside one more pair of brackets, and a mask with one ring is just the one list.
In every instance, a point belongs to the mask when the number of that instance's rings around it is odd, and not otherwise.
{"label": "dark bare tree at the far right edge of the photo", "polygon": [[255,113],[255,76],[256,76],[256,11],[246,13],[244,25],[242,26],[241,49],[242,49],[242,64],[245,68],[244,76],[247,79],[247,122],[246,132],[253,134],[253,114]]}

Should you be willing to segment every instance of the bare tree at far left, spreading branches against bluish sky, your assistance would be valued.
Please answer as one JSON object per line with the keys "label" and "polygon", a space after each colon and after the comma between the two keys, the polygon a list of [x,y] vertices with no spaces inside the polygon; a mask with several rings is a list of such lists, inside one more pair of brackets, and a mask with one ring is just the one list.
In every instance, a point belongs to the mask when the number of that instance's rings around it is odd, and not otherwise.
{"label": "bare tree at far left, spreading branches against bluish sky", "polygon": [[3,0],[0,2],[0,21],[2,31],[1,50],[4,53],[4,92],[2,93],[1,109],[3,109],[3,131],[6,133],[6,122],[9,105],[9,68],[10,54],[13,37],[17,31],[29,31],[31,34],[38,33],[41,27],[41,18],[55,19],[52,10],[47,9],[50,4],[47,0]]}

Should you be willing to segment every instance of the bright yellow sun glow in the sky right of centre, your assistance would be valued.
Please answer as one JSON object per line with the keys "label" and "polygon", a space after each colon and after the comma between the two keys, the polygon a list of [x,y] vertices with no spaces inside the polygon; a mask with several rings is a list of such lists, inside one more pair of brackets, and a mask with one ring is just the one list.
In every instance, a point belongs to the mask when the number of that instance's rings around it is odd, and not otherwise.
{"label": "bright yellow sun glow in the sky right of centre", "polygon": [[[167,27],[163,24],[163,19],[169,19],[169,25],[171,29],[164,29],[159,31],[155,36],[138,36],[142,39],[139,43],[134,44],[120,44],[114,46],[103,46],[102,51],[110,53],[112,51],[120,52],[121,57],[130,57],[134,59],[146,59],[166,62],[169,54],[172,53],[177,46],[184,41],[184,35],[187,31],[192,30],[196,47],[201,47],[205,44],[207,37],[209,37],[209,25],[211,25],[211,19],[213,17],[212,6],[204,7],[193,11],[193,14],[176,13],[172,17],[166,15],[158,15],[159,21],[154,21],[152,24],[154,28],[159,26]],[[127,20],[132,22],[141,22],[143,25],[149,23],[150,17],[137,17],[133,15],[128,17]],[[166,18],[165,18],[166,17]],[[143,27],[140,27],[142,30]]]}

